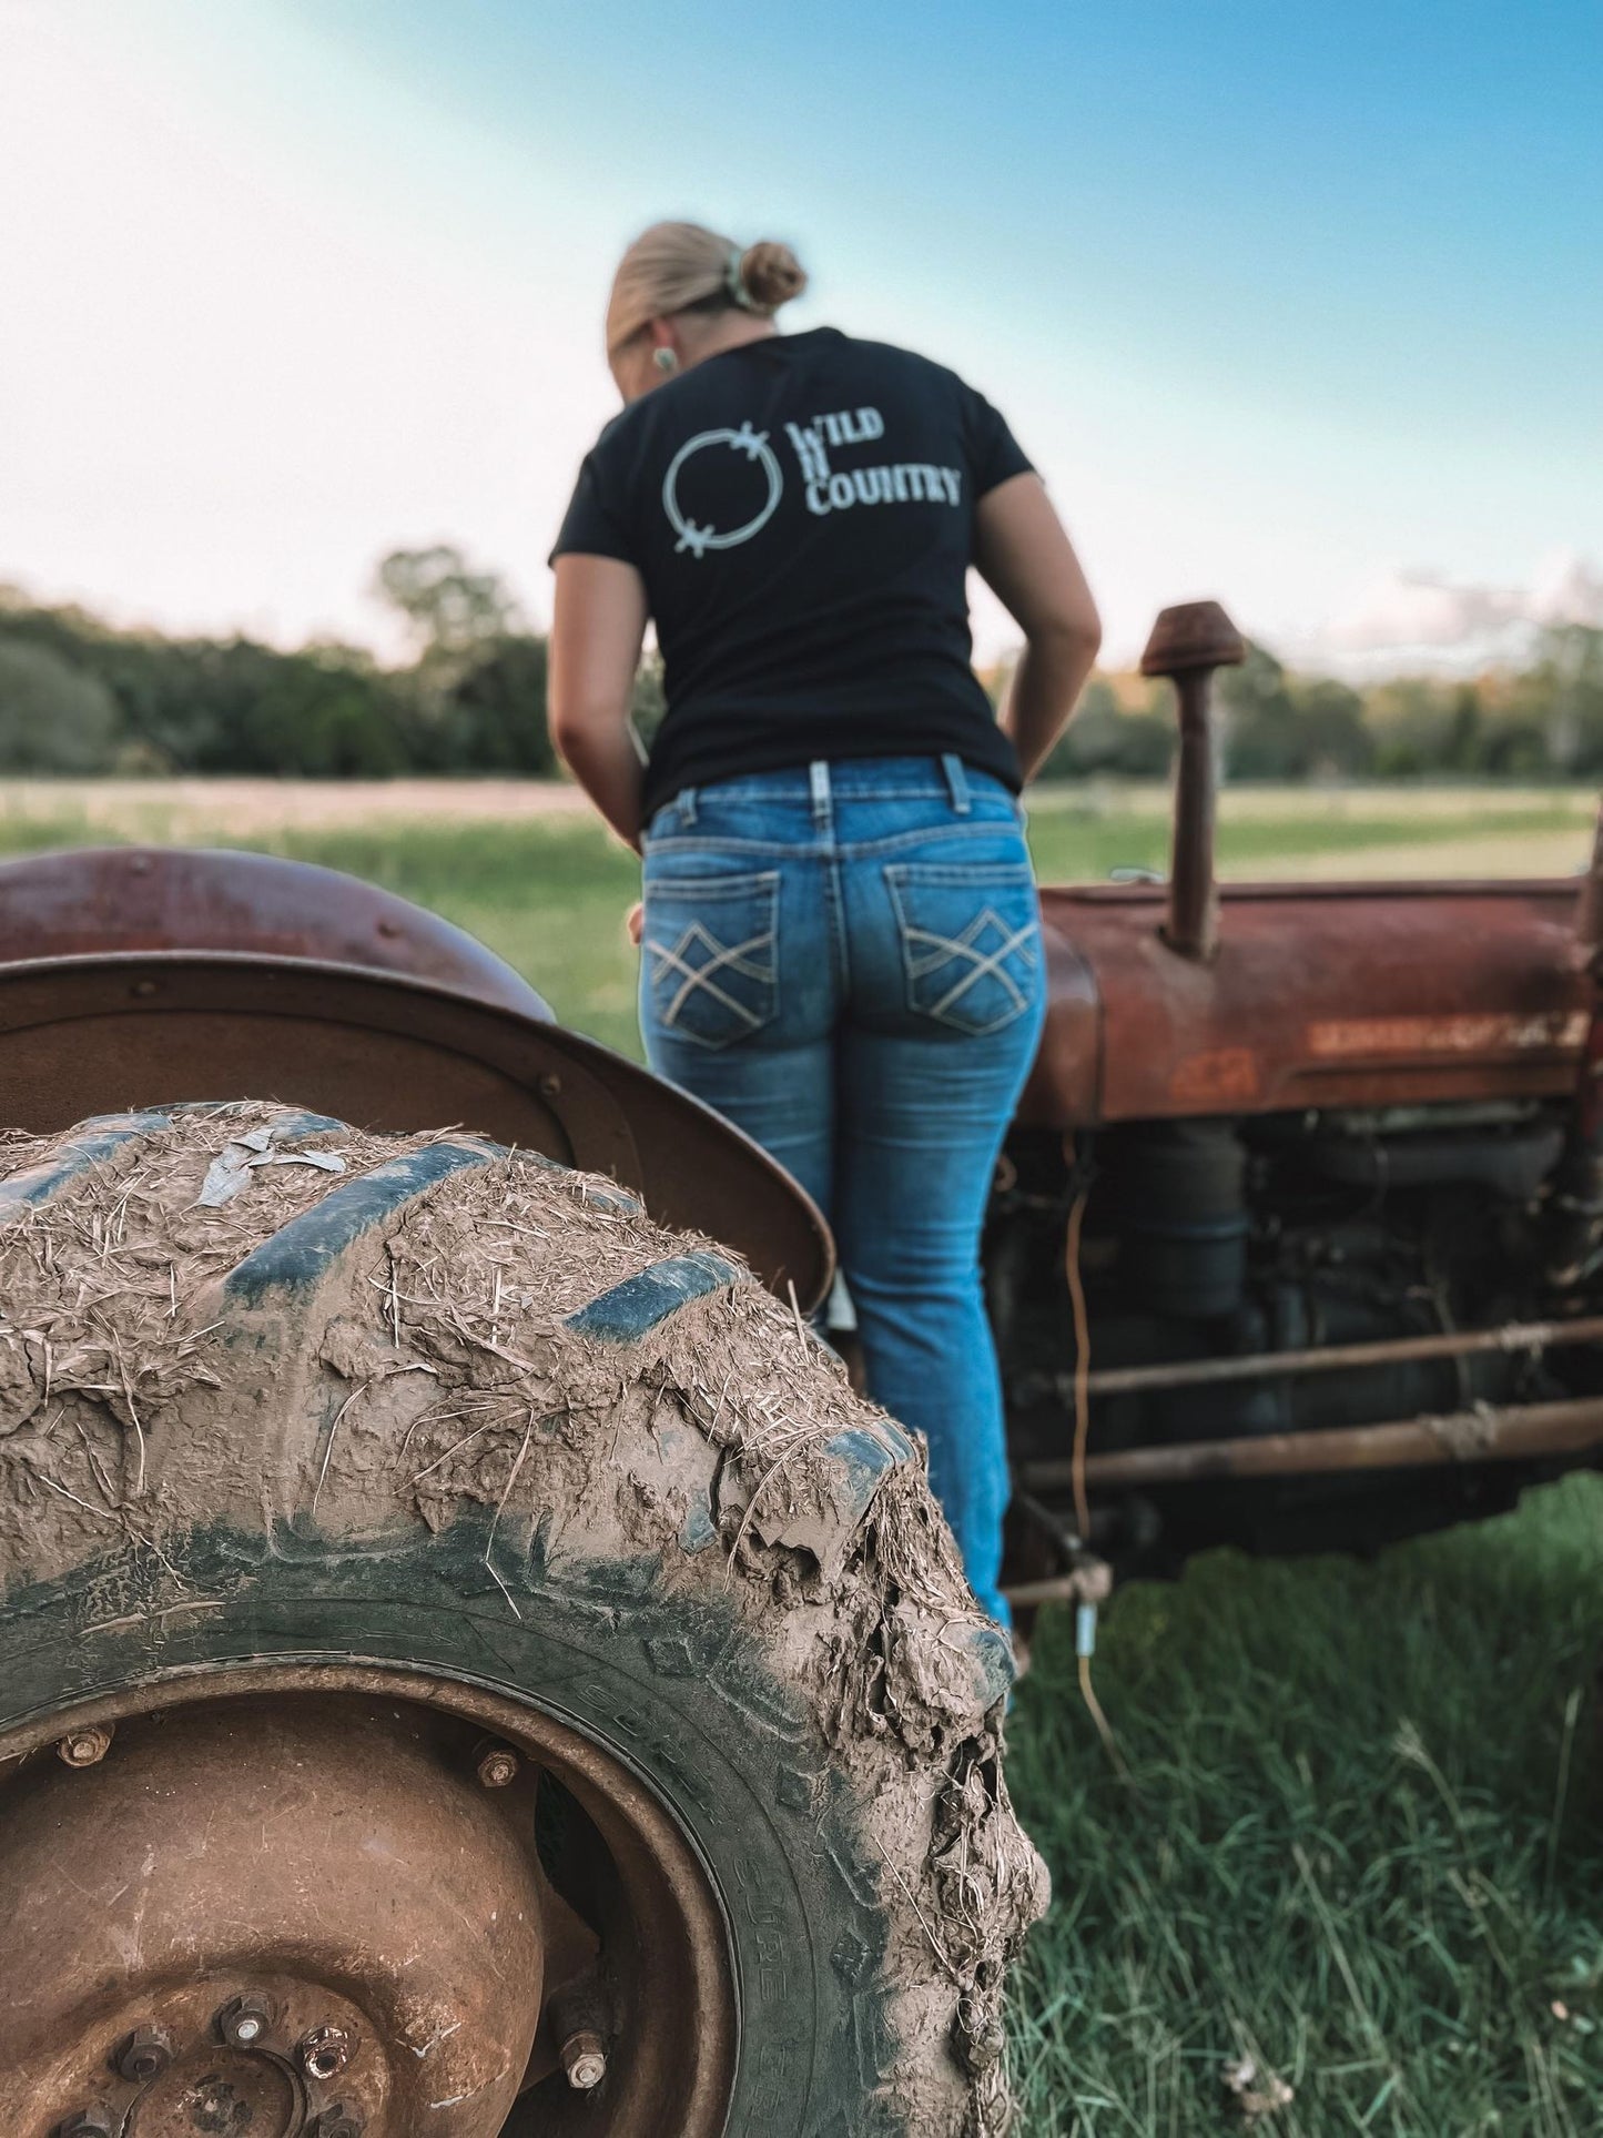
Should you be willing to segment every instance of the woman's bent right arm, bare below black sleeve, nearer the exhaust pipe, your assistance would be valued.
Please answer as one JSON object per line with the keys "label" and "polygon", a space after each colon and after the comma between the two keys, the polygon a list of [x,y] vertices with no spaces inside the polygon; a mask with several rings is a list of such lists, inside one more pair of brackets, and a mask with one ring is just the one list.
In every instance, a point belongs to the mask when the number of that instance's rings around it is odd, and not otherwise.
{"label": "woman's bent right arm, bare below black sleeve, nearer the exhaust pipe", "polygon": [[975,567],[1024,631],[1002,731],[1028,780],[1069,725],[1103,644],[1086,573],[1039,475],[1013,475],[979,500]]}

